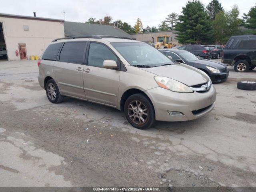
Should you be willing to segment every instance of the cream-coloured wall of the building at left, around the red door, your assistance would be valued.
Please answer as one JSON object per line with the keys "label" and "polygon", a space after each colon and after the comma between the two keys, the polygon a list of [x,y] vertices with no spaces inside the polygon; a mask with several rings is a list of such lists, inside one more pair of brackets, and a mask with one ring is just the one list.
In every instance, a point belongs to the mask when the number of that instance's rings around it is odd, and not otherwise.
{"label": "cream-coloured wall of the building at left, around the red door", "polygon": [[[52,40],[64,37],[63,22],[2,16],[0,22],[4,30],[8,60],[20,60],[20,55],[15,54],[20,43],[26,44],[27,57],[30,59],[31,55],[40,56]],[[28,31],[24,30],[24,25],[28,26]]]}

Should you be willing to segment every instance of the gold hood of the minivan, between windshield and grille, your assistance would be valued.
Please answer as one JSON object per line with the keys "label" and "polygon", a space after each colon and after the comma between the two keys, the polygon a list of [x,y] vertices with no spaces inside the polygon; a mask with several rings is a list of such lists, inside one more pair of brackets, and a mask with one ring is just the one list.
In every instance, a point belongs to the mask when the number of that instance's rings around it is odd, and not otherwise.
{"label": "gold hood of the minivan, between windshield and grille", "polygon": [[168,77],[176,81],[182,82],[187,86],[204,84],[209,81],[209,77],[199,69],[188,66],[186,64],[172,64],[167,66],[140,68],[157,76]]}

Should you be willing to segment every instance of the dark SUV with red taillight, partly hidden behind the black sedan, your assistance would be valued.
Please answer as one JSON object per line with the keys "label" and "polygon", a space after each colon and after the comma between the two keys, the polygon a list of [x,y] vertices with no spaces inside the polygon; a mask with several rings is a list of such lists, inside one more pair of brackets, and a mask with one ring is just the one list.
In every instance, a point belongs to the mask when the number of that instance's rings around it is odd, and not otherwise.
{"label": "dark SUV with red taillight, partly hidden behind the black sedan", "polygon": [[204,47],[202,45],[184,45],[179,47],[178,49],[189,51],[194,54],[198,58],[211,59],[211,52],[208,47]]}

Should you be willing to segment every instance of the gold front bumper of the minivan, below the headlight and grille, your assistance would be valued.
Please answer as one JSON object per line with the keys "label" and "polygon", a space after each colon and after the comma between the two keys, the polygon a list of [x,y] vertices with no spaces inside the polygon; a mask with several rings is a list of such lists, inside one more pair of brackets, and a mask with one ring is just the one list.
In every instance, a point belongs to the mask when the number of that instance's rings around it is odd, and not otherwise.
{"label": "gold front bumper of the minivan, below the headlight and grille", "polygon": [[[146,90],[156,115],[160,121],[187,121],[208,114],[215,105],[216,90],[211,86],[207,92],[179,93],[164,88]],[[180,112],[183,115],[171,115]]]}

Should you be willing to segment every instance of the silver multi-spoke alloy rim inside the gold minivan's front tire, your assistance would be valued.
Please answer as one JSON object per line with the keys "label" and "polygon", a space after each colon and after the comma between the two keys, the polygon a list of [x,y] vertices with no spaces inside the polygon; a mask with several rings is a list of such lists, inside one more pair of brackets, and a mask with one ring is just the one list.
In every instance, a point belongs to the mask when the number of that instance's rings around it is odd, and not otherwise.
{"label": "silver multi-spoke alloy rim inside the gold minivan's front tire", "polygon": [[133,100],[128,106],[128,115],[132,122],[142,125],[148,119],[148,109],[140,100]]}

